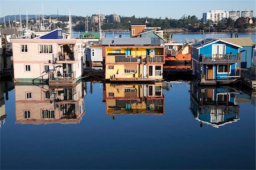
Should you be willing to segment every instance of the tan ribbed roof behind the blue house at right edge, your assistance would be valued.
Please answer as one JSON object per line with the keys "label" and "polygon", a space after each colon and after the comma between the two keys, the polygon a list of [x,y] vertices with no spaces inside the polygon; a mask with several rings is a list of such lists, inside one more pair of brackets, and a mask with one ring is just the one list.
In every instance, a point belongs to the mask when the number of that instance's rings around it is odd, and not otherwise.
{"label": "tan ribbed roof behind the blue house at right edge", "polygon": [[237,44],[240,46],[253,46],[255,43],[251,38],[217,38],[219,40],[224,40],[225,42],[229,42],[232,44]]}

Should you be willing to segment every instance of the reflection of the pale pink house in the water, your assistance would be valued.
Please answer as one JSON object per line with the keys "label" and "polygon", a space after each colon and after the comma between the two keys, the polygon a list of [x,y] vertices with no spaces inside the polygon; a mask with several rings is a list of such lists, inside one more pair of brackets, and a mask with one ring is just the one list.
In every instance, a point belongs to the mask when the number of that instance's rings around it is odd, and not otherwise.
{"label": "reflection of the pale pink house in the water", "polygon": [[85,113],[82,82],[73,86],[16,85],[16,123],[79,123]]}

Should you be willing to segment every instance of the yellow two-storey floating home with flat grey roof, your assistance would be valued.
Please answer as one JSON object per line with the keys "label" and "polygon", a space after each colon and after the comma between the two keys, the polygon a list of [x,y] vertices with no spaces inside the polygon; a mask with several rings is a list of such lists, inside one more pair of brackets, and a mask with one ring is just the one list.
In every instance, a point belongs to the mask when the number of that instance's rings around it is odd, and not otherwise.
{"label": "yellow two-storey floating home with flat grey roof", "polygon": [[151,38],[105,38],[102,40],[105,78],[110,81],[156,81],[163,79],[164,46]]}

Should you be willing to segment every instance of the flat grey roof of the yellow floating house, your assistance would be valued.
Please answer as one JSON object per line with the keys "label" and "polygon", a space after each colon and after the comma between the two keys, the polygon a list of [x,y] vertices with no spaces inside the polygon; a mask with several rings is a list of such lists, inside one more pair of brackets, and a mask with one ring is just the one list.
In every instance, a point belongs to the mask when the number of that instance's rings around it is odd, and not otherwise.
{"label": "flat grey roof of the yellow floating house", "polygon": [[104,38],[102,45],[151,45],[151,38]]}

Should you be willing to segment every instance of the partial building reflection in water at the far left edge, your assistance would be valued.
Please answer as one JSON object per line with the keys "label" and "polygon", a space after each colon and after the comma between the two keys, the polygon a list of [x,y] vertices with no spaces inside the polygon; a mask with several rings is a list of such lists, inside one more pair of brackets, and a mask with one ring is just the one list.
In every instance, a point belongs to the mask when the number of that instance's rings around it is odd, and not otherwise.
{"label": "partial building reflection in water at the far left edge", "polygon": [[[9,91],[13,90],[13,82],[5,81],[0,83],[0,127],[5,125],[6,122],[6,111],[5,111],[5,99],[6,101],[9,99]],[[5,94],[5,96],[4,96]]]}

